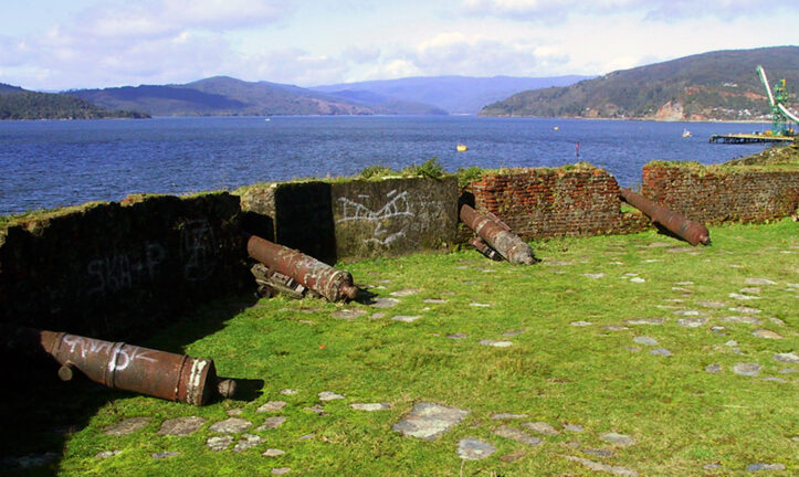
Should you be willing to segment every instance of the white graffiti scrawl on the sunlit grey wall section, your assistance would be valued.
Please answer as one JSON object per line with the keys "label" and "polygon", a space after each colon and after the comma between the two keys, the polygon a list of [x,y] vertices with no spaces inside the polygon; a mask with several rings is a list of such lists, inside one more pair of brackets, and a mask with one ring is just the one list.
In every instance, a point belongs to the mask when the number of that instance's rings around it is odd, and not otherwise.
{"label": "white graffiti scrawl on the sunlit grey wall section", "polygon": [[[370,199],[369,195],[361,194],[358,199],[366,202]],[[337,222],[347,221],[367,221],[375,222],[377,225],[372,232],[372,236],[364,240],[365,243],[376,243],[378,245],[388,245],[396,240],[406,235],[404,229],[408,227],[409,220],[413,218],[410,203],[408,202],[408,191],[397,193],[397,190],[392,190],[386,194],[388,202],[386,205],[375,211],[361,202],[356,202],[347,198],[338,198],[338,201],[344,208],[343,218]],[[387,219],[399,218],[402,221],[401,229],[396,232],[391,232],[385,229]]]}

